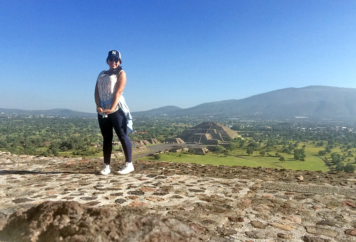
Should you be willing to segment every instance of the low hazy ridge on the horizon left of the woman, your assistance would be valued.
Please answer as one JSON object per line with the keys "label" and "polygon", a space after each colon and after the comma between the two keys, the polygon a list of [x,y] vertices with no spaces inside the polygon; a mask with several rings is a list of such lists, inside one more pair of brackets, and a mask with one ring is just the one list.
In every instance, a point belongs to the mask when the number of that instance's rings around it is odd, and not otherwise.
{"label": "low hazy ridge on the horizon left of the woman", "polygon": [[0,108],[0,114],[9,115],[45,115],[58,117],[96,117],[97,114],[90,112],[78,112],[70,109],[49,109],[49,110],[21,110],[21,109],[5,109]]}

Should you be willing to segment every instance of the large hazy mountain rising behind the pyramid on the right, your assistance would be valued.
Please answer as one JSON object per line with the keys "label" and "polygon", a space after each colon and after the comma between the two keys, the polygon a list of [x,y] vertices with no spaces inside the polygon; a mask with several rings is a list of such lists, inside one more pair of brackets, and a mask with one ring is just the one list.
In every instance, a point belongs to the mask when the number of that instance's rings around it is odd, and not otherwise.
{"label": "large hazy mountain rising behind the pyramid on the right", "polygon": [[203,103],[192,108],[168,112],[174,115],[254,115],[264,117],[307,116],[356,118],[356,88],[308,86],[284,88],[253,95]]}

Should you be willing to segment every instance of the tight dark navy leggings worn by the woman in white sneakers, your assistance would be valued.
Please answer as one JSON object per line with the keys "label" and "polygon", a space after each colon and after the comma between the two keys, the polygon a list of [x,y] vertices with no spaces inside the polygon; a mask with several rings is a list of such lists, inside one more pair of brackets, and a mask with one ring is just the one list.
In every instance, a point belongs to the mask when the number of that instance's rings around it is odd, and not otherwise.
{"label": "tight dark navy leggings worn by the woman in white sneakers", "polygon": [[117,136],[124,150],[126,162],[131,162],[131,141],[129,136],[127,136],[127,126],[126,117],[121,109],[109,114],[107,118],[103,118],[101,114],[98,114],[98,121],[101,134],[103,135],[103,153],[104,153],[104,163],[110,164],[111,151],[112,151],[112,128],[114,128]]}

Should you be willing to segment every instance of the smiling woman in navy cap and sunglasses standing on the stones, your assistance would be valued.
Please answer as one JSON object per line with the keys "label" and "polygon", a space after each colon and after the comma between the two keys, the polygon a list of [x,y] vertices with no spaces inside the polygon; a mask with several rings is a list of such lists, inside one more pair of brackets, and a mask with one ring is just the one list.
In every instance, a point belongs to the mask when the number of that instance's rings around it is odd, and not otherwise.
{"label": "smiling woman in navy cap and sunglasses standing on the stones", "polygon": [[101,134],[103,135],[104,167],[101,175],[108,175],[112,151],[112,128],[114,128],[125,154],[125,165],[117,171],[127,174],[134,170],[131,159],[131,141],[127,133],[132,133],[132,117],[122,96],[126,84],[126,73],[122,70],[121,54],[110,50],[106,63],[110,69],[100,72],[95,86],[96,112]]}

